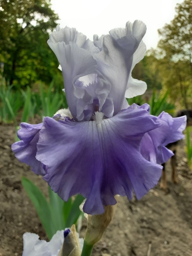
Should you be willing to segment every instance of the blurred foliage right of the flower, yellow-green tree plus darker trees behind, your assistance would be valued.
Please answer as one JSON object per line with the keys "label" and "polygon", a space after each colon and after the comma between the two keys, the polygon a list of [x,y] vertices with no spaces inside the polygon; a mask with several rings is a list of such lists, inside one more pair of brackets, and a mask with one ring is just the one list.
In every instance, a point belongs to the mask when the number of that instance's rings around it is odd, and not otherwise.
{"label": "blurred foliage right of the flower, yellow-green tree plus darker trees behind", "polygon": [[192,108],[192,0],[176,5],[170,24],[158,30],[160,40],[133,69],[148,90],[169,90],[178,108]]}

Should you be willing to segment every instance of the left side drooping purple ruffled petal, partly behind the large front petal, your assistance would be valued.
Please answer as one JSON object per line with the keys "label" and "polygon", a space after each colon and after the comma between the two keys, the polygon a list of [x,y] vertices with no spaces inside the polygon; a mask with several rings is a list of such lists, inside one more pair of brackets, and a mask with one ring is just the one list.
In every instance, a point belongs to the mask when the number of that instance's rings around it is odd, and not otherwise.
{"label": "left side drooping purple ruffled petal, partly behind the large front petal", "polygon": [[21,123],[17,132],[20,141],[12,144],[12,151],[20,162],[31,166],[31,170],[39,175],[44,175],[44,165],[36,159],[37,142],[39,140],[39,131],[41,124]]}

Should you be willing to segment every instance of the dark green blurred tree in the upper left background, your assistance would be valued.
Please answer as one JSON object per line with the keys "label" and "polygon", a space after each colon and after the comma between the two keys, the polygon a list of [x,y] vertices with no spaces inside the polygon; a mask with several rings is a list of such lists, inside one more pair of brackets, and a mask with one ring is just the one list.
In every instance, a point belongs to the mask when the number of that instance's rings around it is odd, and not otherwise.
{"label": "dark green blurred tree in the upper left background", "polygon": [[49,0],[0,1],[0,62],[4,62],[6,81],[14,87],[37,80],[50,83],[60,74],[46,43],[58,19]]}

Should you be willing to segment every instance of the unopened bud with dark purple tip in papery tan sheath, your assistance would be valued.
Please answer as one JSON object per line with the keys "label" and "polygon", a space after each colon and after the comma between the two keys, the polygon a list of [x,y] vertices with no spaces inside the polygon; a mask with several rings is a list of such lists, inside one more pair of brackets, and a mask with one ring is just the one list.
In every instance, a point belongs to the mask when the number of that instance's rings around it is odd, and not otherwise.
{"label": "unopened bud with dark purple tip in papery tan sheath", "polygon": [[64,231],[64,242],[58,256],[80,256],[81,249],[75,225]]}

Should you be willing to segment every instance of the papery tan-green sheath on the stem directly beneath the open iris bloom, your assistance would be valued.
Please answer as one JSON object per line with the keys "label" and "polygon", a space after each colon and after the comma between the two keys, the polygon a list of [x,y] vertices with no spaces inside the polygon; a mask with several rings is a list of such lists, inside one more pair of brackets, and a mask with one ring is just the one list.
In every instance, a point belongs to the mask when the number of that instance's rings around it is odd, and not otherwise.
{"label": "papery tan-green sheath on the stem directly beneath the open iris bloom", "polygon": [[88,215],[88,225],[84,238],[85,243],[88,245],[94,245],[101,239],[113,218],[116,204],[104,206],[104,208],[105,212],[101,215]]}

